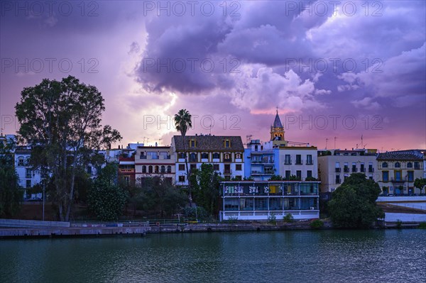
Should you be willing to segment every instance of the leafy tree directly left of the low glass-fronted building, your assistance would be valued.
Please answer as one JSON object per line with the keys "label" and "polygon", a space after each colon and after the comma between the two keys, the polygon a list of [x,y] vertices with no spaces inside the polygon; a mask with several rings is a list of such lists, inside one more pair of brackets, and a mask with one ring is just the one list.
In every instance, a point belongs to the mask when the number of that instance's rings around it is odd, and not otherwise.
{"label": "leafy tree directly left of the low glass-fronted building", "polygon": [[194,196],[199,206],[204,207],[210,215],[219,211],[219,185],[222,177],[214,171],[213,165],[203,163],[200,170],[195,170]]}

